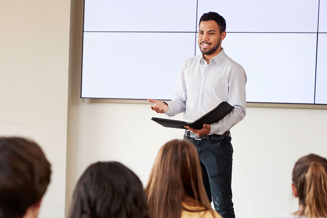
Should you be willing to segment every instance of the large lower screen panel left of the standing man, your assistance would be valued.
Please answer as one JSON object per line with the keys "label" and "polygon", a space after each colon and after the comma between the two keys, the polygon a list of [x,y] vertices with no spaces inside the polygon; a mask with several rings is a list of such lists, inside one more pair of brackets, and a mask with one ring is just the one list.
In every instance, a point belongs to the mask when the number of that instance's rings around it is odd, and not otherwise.
{"label": "large lower screen panel left of the standing man", "polygon": [[84,33],[82,97],[172,99],[182,61],[194,56],[194,38],[195,33]]}

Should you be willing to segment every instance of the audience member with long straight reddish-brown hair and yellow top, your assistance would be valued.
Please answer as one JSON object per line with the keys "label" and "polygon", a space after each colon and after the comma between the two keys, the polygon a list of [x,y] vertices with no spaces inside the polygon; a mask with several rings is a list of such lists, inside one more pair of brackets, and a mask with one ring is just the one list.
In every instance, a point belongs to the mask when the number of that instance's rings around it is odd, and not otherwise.
{"label": "audience member with long straight reddish-brown hair and yellow top", "polygon": [[211,209],[198,153],[187,140],[172,140],[161,147],[146,196],[152,218],[221,218]]}

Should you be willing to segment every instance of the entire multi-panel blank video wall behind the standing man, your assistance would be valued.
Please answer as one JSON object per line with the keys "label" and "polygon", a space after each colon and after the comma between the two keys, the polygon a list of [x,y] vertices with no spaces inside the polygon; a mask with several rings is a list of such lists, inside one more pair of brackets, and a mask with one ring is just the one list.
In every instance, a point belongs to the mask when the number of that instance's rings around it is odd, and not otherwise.
{"label": "entire multi-panel blank video wall behind the standing man", "polygon": [[209,11],[226,20],[247,102],[327,104],[327,0],[85,0],[81,97],[172,99]]}

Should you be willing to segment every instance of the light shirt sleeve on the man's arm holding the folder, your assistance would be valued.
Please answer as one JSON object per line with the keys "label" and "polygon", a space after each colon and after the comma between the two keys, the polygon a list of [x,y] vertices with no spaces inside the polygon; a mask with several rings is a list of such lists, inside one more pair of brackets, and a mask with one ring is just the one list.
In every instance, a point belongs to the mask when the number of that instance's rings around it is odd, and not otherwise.
{"label": "light shirt sleeve on the man's arm holding the folder", "polygon": [[234,106],[232,112],[217,123],[211,124],[209,135],[223,134],[244,119],[246,115],[245,83],[247,76],[242,66],[231,69],[228,80],[228,103]]}

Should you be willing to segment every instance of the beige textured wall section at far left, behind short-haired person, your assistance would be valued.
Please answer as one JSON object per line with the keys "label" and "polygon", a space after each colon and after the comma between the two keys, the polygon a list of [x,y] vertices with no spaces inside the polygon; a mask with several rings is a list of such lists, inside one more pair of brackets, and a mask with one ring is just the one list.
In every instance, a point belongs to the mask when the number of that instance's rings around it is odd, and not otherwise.
{"label": "beige textured wall section at far left, behind short-haired person", "polygon": [[25,136],[52,164],[41,218],[64,217],[70,1],[0,1],[0,135]]}

